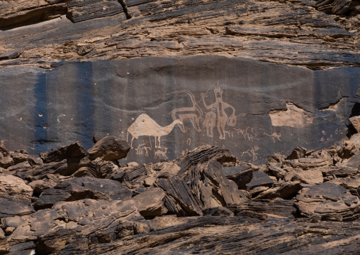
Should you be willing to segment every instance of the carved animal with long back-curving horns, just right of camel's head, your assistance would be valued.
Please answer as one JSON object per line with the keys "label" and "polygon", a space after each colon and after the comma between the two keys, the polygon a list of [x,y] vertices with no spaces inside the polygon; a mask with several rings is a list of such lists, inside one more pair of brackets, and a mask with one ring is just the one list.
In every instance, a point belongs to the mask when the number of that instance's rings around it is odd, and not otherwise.
{"label": "carved animal with long back-curving horns, just right of camel's head", "polygon": [[198,106],[198,103],[196,103],[196,100],[195,100],[195,97],[193,96],[193,94],[187,90],[174,91],[174,92],[171,92],[170,94],[173,94],[173,93],[189,94],[191,102],[193,103],[193,106],[173,109],[170,112],[172,120],[175,121],[176,119],[180,119],[182,124],[177,124],[177,125],[179,126],[181,131],[183,131],[183,133],[185,133],[187,130],[185,129],[185,126],[184,126],[184,119],[190,119],[191,124],[193,124],[194,129],[196,129],[196,131],[200,132],[201,131],[200,118],[203,116],[203,111]]}

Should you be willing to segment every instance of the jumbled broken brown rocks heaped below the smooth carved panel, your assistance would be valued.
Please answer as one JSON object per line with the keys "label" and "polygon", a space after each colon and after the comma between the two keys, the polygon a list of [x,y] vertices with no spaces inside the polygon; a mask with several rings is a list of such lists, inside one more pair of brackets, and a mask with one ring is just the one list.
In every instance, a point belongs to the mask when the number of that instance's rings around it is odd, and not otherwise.
{"label": "jumbled broken brown rocks heaped below the smooth carved panel", "polygon": [[120,166],[94,137],[40,156],[0,146],[0,254],[356,254],[359,134],[266,165],[201,146]]}

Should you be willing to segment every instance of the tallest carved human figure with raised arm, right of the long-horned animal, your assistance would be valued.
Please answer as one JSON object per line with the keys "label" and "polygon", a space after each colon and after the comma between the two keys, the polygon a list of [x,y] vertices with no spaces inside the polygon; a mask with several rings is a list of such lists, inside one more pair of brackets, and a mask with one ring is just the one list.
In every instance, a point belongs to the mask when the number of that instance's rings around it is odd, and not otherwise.
{"label": "tallest carved human figure with raised arm, right of the long-horned animal", "polygon": [[[214,89],[214,93],[215,93],[215,102],[213,104],[206,104],[205,102],[205,97],[206,94],[201,93],[201,98],[203,99],[203,104],[205,105],[206,109],[212,109],[211,112],[213,112],[213,109],[216,109],[216,119],[215,121],[217,122],[217,128],[218,128],[218,132],[220,134],[219,138],[220,139],[225,139],[225,125],[227,124],[228,126],[235,126],[236,124],[236,116],[235,116],[235,108],[232,107],[231,104],[227,104],[225,102],[223,102],[223,89],[220,89],[220,86],[217,86]],[[230,115],[230,117],[227,116],[225,109],[227,108],[231,108],[232,109],[232,114]],[[210,114],[208,115],[208,119],[210,118]],[[208,124],[209,121],[204,121],[205,126],[209,126],[210,129],[210,124]],[[212,132],[210,132],[210,130],[207,132],[208,136],[211,136]]]}

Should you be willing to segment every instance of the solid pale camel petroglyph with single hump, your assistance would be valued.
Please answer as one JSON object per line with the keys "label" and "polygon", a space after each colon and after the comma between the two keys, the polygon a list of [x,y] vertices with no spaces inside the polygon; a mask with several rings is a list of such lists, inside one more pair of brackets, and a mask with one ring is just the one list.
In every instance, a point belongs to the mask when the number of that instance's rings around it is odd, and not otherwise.
{"label": "solid pale camel petroglyph with single hump", "polygon": [[[176,124],[182,124],[181,120],[176,119],[167,126],[160,126],[149,115],[141,114],[128,128],[128,136],[129,133],[133,136],[130,146],[133,148],[133,140],[138,139],[139,136],[154,136],[155,148],[161,148],[161,137],[167,136]],[[128,141],[128,136],[126,141]]]}

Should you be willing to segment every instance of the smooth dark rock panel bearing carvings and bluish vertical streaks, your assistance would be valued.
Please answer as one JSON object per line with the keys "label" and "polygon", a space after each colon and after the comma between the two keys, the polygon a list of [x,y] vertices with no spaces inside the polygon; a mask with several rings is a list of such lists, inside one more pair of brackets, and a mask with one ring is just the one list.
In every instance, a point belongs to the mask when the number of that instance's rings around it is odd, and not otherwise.
{"label": "smooth dark rock panel bearing carvings and bluish vertical streaks", "polygon": [[5,67],[0,79],[7,148],[40,153],[79,141],[87,150],[94,134],[115,136],[132,147],[122,163],[171,160],[204,145],[264,163],[294,144],[334,144],[360,114],[359,67],[314,71],[199,55]]}

